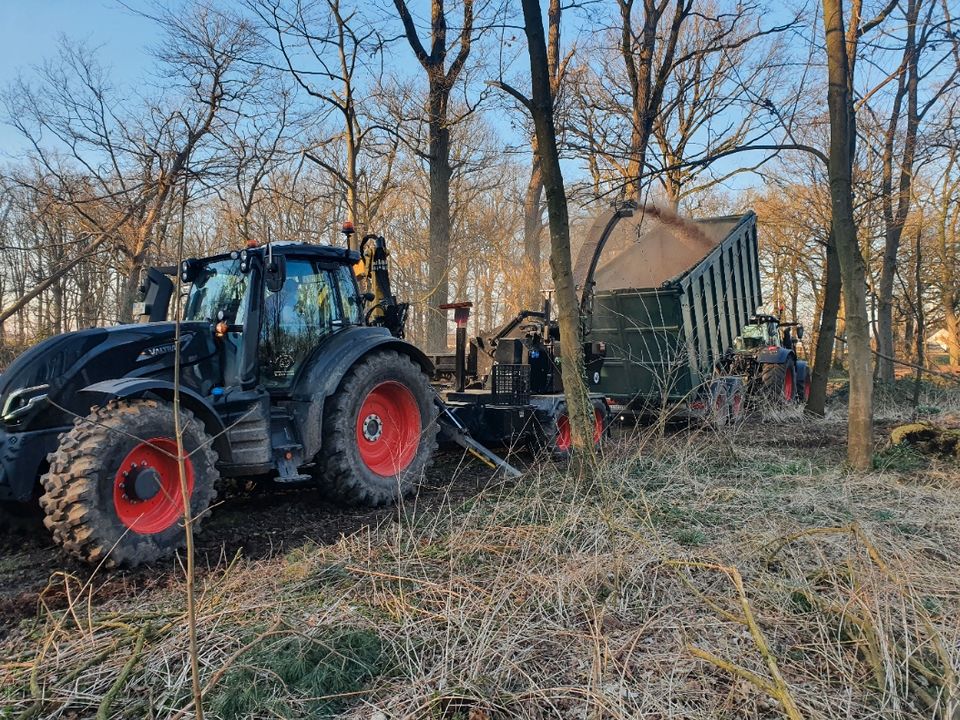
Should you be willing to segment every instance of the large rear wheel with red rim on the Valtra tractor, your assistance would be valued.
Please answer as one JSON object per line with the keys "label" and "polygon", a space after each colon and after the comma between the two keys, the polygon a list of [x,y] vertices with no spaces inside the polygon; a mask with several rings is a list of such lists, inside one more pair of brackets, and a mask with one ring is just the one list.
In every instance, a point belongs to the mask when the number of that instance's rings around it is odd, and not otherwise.
{"label": "large rear wheel with red rim on the Valtra tractor", "polygon": [[413,492],[437,449],[437,406],[423,370],[394,350],[368,355],[323,408],[321,482],[341,502],[384,505]]}

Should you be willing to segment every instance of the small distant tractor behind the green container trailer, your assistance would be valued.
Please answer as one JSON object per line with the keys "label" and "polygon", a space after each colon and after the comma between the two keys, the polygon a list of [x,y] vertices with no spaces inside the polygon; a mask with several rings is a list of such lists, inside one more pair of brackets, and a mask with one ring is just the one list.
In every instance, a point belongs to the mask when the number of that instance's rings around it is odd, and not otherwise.
{"label": "small distant tractor behind the green container trailer", "polygon": [[773,404],[805,403],[810,397],[810,367],[797,357],[802,339],[799,323],[755,315],[720,358],[717,370],[744,376],[749,397]]}

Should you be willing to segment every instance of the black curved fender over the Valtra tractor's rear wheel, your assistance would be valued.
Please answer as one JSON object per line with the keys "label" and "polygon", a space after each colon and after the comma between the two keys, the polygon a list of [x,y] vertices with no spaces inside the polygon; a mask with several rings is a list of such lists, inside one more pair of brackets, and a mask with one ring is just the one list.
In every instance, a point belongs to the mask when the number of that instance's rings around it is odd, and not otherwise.
{"label": "black curved fender over the Valtra tractor's rear wheel", "polygon": [[395,338],[386,328],[358,326],[334,334],[314,350],[294,384],[291,409],[300,427],[305,458],[312,458],[320,450],[324,402],[337,391],[350,368],[375,350],[407,355],[427,375],[433,375],[433,363],[426,354]]}

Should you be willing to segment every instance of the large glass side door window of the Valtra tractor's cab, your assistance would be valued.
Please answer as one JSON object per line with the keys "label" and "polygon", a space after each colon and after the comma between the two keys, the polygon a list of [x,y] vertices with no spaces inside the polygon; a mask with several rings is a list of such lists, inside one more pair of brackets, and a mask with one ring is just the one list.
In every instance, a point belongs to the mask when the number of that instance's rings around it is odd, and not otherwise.
{"label": "large glass side door window of the Valtra tractor's cab", "polygon": [[265,291],[259,353],[264,385],[289,387],[311,351],[341,322],[332,273],[288,259],[283,287]]}

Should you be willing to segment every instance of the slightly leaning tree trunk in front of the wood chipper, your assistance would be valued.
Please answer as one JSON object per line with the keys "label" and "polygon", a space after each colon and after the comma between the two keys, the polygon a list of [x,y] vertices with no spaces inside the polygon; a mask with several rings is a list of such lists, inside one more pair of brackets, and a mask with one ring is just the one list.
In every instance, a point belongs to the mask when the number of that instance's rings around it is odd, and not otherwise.
{"label": "slightly leaning tree trunk in front of the wood chipper", "polygon": [[524,32],[530,55],[532,98],[529,107],[537,133],[537,149],[543,169],[547,215],[550,219],[550,271],[562,338],[560,371],[563,392],[570,418],[573,449],[581,457],[589,457],[593,453],[593,411],[587,397],[580,305],[573,284],[567,195],[560,170],[553,122],[553,96],[550,91],[543,17],[539,0],[522,0],[522,4]]}

